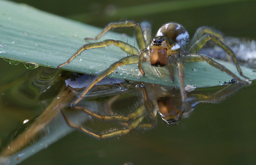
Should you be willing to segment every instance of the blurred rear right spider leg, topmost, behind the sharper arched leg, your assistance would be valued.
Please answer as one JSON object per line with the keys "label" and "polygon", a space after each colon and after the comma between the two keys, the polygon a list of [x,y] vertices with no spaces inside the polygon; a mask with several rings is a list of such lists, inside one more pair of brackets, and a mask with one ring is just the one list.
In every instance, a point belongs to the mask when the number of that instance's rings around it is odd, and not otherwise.
{"label": "blurred rear right spider leg, topmost, behind the sharper arched leg", "polygon": [[223,40],[223,34],[222,32],[214,29],[214,28],[211,28],[211,27],[207,27],[207,26],[202,26],[202,27],[199,27],[194,36],[192,37],[192,39],[190,40],[190,43],[187,45],[186,49],[189,48],[189,46],[195,44],[195,42],[201,38],[203,36],[203,34],[210,34],[210,35],[214,35],[216,36],[218,39],[220,39],[221,41]]}

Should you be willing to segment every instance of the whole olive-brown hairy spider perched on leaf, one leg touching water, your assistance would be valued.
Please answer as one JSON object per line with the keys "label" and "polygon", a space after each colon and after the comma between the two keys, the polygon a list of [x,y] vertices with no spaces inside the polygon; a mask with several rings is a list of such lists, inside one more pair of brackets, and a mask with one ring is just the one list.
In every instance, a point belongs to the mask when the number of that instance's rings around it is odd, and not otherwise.
{"label": "whole olive-brown hairy spider perched on leaf, one leg touching water", "polygon": [[[167,23],[167,24],[164,24],[162,27],[160,27],[156,36],[152,39],[151,25],[148,22],[142,22],[141,24],[138,24],[134,21],[124,21],[124,22],[109,23],[109,25],[107,25],[107,27],[105,27],[104,30],[101,33],[99,33],[99,35],[97,35],[95,38],[85,38],[85,39],[97,40],[100,37],[102,37],[102,35],[104,35],[107,31],[116,27],[134,27],[139,50],[136,47],[130,44],[127,44],[125,42],[122,42],[119,40],[113,40],[113,39],[106,39],[101,42],[95,42],[95,43],[83,45],[65,63],[62,63],[56,67],[56,68],[60,68],[61,66],[68,64],[70,61],[72,61],[77,55],[79,55],[84,50],[99,48],[99,47],[107,47],[108,45],[111,45],[111,44],[121,48],[122,50],[130,54],[130,56],[124,57],[119,61],[113,63],[109,68],[107,68],[105,71],[99,74],[94,79],[94,81],[92,81],[92,83],[88,85],[88,87],[84,90],[84,92],[71,104],[71,107],[76,109],[82,109],[87,114],[94,116],[96,118],[99,118],[103,121],[127,122],[129,120],[135,120],[135,119],[141,118],[139,114],[130,114],[128,116],[104,116],[104,115],[100,116],[91,111],[88,111],[83,107],[76,106],[76,104],[84,97],[85,94],[87,94],[87,92],[96,83],[102,80],[102,78],[114,72],[118,66],[138,63],[139,71],[142,73],[142,75],[145,75],[142,68],[143,61],[150,61],[152,66],[157,66],[157,67],[169,66],[169,72],[170,72],[170,77],[172,82],[174,81],[173,68],[177,67],[181,101],[182,101],[182,112],[189,111],[190,109],[190,106],[187,100],[187,94],[185,91],[185,84],[184,84],[184,72],[183,72],[184,62],[206,61],[211,66],[214,66],[215,68],[218,68],[221,71],[231,75],[233,78],[237,80],[237,82],[245,83],[245,84],[249,83],[248,81],[242,80],[239,77],[237,77],[225,66],[214,61],[209,56],[205,56],[203,54],[197,54],[197,51],[199,51],[207,41],[212,40],[215,44],[221,47],[232,58],[239,74],[243,78],[247,80],[249,79],[248,77],[243,75],[233,51],[222,42],[223,40],[222,33],[213,28],[205,27],[205,26],[199,27],[196,30],[192,39],[190,39],[187,30],[182,25],[178,23]],[[130,127],[134,127],[134,124],[131,125]],[[92,135],[90,133],[88,134]]]}

